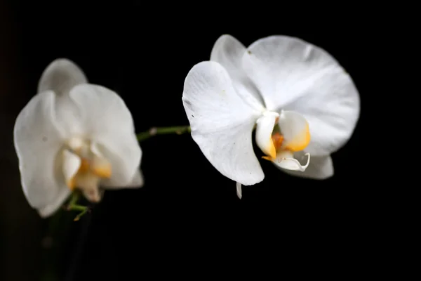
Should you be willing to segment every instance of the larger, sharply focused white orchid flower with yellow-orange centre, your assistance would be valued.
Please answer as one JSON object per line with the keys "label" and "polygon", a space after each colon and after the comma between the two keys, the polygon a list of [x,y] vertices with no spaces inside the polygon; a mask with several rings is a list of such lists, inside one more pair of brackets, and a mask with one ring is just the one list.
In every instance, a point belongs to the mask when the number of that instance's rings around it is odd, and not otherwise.
{"label": "larger, sharply focused white orchid flower with yellow-orange centre", "polygon": [[265,177],[253,152],[255,127],[265,159],[288,174],[324,179],[333,176],[330,154],[349,140],[360,110],[359,93],[339,63],[286,36],[245,48],[222,35],[210,61],[187,74],[182,101],[192,138],[222,175],[237,182],[240,198],[241,185]]}

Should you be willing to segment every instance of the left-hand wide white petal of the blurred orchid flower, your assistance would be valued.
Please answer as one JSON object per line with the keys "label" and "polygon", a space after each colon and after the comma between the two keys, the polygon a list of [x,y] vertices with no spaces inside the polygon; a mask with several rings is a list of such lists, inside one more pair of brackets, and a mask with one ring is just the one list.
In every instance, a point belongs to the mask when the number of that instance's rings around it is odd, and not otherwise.
{"label": "left-hand wide white petal of the blurred orchid flower", "polygon": [[52,91],[34,96],[19,113],[13,132],[25,197],[45,216],[69,195],[62,171],[57,169],[62,138],[54,122],[54,103]]}

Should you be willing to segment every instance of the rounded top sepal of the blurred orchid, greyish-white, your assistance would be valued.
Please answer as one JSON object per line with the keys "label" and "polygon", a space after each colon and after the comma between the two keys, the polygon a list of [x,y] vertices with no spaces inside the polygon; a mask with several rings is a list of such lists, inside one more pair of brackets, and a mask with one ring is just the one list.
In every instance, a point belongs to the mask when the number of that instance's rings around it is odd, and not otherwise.
{"label": "rounded top sepal of the blurred orchid, greyish-white", "polygon": [[69,93],[78,84],[88,83],[83,71],[66,58],[58,58],[50,63],[38,84],[38,93],[54,91],[57,94]]}

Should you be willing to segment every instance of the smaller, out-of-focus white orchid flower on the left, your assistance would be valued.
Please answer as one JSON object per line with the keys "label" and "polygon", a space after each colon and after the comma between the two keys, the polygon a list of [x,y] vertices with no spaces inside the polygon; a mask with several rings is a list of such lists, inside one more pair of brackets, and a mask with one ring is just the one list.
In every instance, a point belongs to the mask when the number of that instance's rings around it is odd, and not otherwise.
{"label": "smaller, out-of-focus white orchid flower on the left", "polygon": [[100,186],[143,184],[131,112],[66,59],[44,70],[38,93],[16,119],[14,143],[25,197],[41,217],[51,216],[74,188],[99,202]]}

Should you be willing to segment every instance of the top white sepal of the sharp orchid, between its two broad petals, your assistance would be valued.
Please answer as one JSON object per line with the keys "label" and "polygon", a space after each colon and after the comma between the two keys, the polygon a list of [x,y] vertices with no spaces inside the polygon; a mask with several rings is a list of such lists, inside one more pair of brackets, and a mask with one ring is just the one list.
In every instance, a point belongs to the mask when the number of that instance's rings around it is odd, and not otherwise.
{"label": "top white sepal of the sharp orchid, between its two broad petals", "polygon": [[234,88],[241,97],[257,110],[265,110],[263,99],[255,84],[243,71],[242,58],[246,47],[240,41],[225,34],[218,38],[210,53],[210,60],[220,63],[232,79]]}

